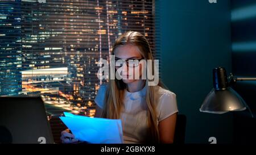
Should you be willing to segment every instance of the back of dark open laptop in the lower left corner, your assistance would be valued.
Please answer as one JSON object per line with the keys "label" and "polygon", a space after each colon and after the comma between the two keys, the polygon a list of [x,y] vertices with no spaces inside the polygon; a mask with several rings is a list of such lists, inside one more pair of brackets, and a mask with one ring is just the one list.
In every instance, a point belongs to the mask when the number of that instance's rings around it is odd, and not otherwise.
{"label": "back of dark open laptop in the lower left corner", "polygon": [[53,143],[42,98],[0,97],[1,143]]}

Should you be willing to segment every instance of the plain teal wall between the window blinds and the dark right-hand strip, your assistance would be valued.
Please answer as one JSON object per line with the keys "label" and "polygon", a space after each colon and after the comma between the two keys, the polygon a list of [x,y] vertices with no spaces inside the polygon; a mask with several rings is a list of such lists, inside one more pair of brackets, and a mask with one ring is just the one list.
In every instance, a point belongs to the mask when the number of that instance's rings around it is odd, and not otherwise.
{"label": "plain teal wall between the window blinds and the dark right-hand strip", "polygon": [[232,141],[232,115],[199,111],[212,89],[212,69],[231,72],[230,1],[160,1],[162,79],[187,116],[186,143]]}

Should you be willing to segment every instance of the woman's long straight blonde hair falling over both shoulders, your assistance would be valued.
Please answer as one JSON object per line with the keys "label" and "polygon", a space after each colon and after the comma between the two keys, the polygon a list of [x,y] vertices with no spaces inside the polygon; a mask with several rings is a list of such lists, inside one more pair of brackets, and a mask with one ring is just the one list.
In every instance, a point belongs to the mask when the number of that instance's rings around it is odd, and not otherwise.
{"label": "woman's long straight blonde hair falling over both shoulders", "polygon": [[[143,58],[147,60],[154,60],[150,45],[141,33],[129,31],[123,33],[115,41],[112,49],[112,55],[117,47],[121,45],[135,45],[141,51]],[[159,86],[164,87],[163,83],[159,81]],[[143,143],[159,143],[158,122],[155,107],[155,93],[154,86],[148,86],[148,79],[146,79],[146,103],[147,103],[147,135],[146,141]],[[108,89],[105,94],[105,103],[102,111],[102,118],[119,119],[120,114],[124,108],[123,97],[126,89],[126,83],[118,79],[109,79]]]}

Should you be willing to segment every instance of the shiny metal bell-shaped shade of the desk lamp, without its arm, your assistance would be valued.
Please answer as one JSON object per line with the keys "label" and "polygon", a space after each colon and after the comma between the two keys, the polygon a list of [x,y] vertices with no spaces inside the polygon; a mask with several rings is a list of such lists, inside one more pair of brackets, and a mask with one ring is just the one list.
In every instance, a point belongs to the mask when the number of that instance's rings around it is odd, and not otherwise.
{"label": "shiny metal bell-shaped shade of the desk lamp, without its arm", "polygon": [[245,100],[231,87],[225,90],[212,89],[201,105],[201,112],[224,114],[229,111],[246,109]]}

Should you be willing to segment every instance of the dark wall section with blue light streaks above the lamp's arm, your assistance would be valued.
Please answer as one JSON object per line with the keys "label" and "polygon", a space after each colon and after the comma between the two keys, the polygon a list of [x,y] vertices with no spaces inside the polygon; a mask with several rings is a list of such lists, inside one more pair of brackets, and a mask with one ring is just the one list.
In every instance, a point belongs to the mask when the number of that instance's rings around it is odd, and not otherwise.
{"label": "dark wall section with blue light streaks above the lamp's arm", "polygon": [[232,67],[237,76],[256,76],[256,1],[232,0]]}

